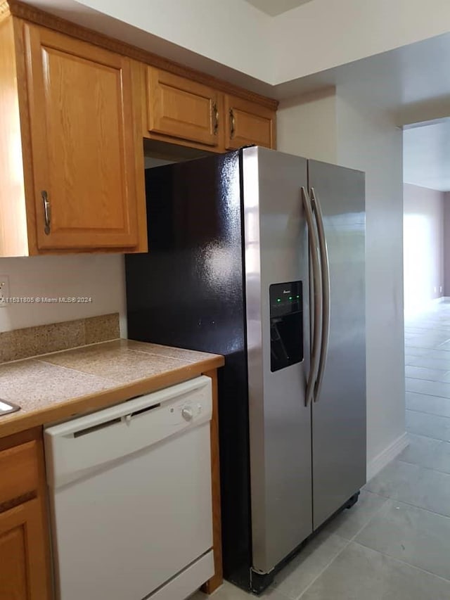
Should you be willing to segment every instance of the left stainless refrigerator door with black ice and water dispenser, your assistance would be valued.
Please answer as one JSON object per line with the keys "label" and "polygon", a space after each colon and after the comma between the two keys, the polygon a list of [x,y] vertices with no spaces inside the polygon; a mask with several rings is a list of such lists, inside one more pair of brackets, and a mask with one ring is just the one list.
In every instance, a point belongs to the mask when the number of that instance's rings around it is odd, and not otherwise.
{"label": "left stainless refrigerator door with black ice and water dispenser", "polygon": [[260,574],[312,530],[306,184],[306,160],[243,150],[252,568]]}

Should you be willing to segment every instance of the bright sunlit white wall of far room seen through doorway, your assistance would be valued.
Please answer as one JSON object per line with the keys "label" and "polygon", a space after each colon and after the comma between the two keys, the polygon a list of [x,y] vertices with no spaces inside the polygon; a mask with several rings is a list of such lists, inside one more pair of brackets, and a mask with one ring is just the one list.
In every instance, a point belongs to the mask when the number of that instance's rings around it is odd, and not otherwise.
{"label": "bright sunlit white wall of far room seen through doorway", "polygon": [[405,314],[444,295],[444,193],[404,184]]}

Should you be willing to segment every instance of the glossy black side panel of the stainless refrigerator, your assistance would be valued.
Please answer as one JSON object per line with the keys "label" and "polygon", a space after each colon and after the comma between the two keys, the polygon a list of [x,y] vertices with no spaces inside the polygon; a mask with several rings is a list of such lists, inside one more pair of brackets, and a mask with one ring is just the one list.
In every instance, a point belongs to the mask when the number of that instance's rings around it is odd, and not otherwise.
{"label": "glossy black side panel of the stainless refrigerator", "polygon": [[146,170],[148,253],[125,257],[128,337],[224,355],[224,575],[250,587],[248,384],[240,153]]}

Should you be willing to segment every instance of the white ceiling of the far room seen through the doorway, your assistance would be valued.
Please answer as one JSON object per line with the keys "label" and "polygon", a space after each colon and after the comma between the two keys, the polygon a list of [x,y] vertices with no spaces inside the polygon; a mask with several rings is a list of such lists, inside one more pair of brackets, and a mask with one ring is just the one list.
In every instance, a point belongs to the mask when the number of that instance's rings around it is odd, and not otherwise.
{"label": "white ceiling of the far room seen through the doorway", "polygon": [[404,181],[450,191],[450,118],[404,130]]}

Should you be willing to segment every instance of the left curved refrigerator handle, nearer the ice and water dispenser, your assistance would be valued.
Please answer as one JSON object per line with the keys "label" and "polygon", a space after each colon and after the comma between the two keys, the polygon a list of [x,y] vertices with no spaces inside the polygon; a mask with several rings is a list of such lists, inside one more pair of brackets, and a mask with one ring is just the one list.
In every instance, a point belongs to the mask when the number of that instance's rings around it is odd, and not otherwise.
{"label": "left curved refrigerator handle, nearer the ice and water dispenser", "polygon": [[[309,239],[309,255],[311,257],[312,267],[312,286],[314,289],[314,321],[313,321],[313,335],[311,345],[311,364],[309,367],[309,376],[307,380],[307,391],[305,396],[305,406],[311,404],[314,395],[314,383],[316,381],[319,372],[319,359],[320,352],[319,347],[321,345],[321,318],[323,315],[322,310],[322,278],[321,278],[321,267],[319,260],[319,236],[314,226],[314,215],[311,205],[311,198],[307,189],[302,186],[302,200],[304,206],[304,214],[308,225],[308,239]],[[309,283],[311,285],[311,282]],[[310,308],[311,310],[311,308]]]}

